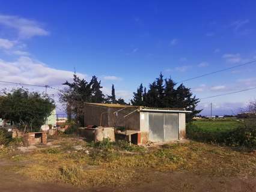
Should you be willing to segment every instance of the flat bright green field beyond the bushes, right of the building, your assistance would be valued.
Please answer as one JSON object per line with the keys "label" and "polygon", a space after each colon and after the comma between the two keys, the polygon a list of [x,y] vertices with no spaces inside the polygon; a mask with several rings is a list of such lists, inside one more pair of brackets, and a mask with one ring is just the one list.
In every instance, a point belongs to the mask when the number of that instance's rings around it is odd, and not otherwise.
{"label": "flat bright green field beyond the bushes, right of the building", "polygon": [[197,120],[192,122],[193,125],[196,125],[199,130],[204,132],[227,131],[237,128],[241,123],[241,121],[237,121],[236,119]]}

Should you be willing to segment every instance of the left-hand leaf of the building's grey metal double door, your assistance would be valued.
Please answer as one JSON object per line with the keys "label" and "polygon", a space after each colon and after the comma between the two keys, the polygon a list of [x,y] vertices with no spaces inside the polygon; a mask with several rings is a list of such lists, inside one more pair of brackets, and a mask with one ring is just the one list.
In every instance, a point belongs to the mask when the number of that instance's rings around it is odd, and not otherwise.
{"label": "left-hand leaf of the building's grey metal double door", "polygon": [[148,114],[149,140],[151,142],[160,142],[165,139],[163,133],[163,121],[163,113]]}

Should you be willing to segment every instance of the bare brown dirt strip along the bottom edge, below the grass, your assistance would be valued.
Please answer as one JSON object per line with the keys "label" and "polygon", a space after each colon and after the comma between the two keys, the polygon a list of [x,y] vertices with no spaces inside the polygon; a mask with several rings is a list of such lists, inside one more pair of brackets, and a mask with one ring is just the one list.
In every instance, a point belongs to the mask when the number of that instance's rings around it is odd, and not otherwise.
{"label": "bare brown dirt strip along the bottom edge, below the grass", "polygon": [[53,184],[31,181],[22,175],[13,173],[5,167],[9,162],[0,163],[0,191],[1,192],[110,192],[110,191],[256,191],[256,178],[226,178],[210,177],[186,172],[152,172],[147,181],[137,184],[127,184],[123,187],[78,188],[67,184]]}

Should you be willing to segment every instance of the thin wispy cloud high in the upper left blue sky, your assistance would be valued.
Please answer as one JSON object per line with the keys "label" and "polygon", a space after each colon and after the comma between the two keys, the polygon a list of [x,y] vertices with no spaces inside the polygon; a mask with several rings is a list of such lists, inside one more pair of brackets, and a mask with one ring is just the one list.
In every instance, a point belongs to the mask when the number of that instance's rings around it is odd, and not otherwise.
{"label": "thin wispy cloud high in the upper left blue sky", "polygon": [[49,32],[43,29],[40,23],[22,17],[0,14],[0,25],[16,29],[19,38],[49,35]]}

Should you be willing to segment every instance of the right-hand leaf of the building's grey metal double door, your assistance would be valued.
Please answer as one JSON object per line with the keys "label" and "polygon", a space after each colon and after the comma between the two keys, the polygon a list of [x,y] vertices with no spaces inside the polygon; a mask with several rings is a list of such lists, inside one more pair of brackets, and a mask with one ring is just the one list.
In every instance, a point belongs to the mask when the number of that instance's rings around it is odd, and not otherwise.
{"label": "right-hand leaf of the building's grey metal double door", "polygon": [[165,113],[163,128],[165,141],[178,139],[178,114]]}

